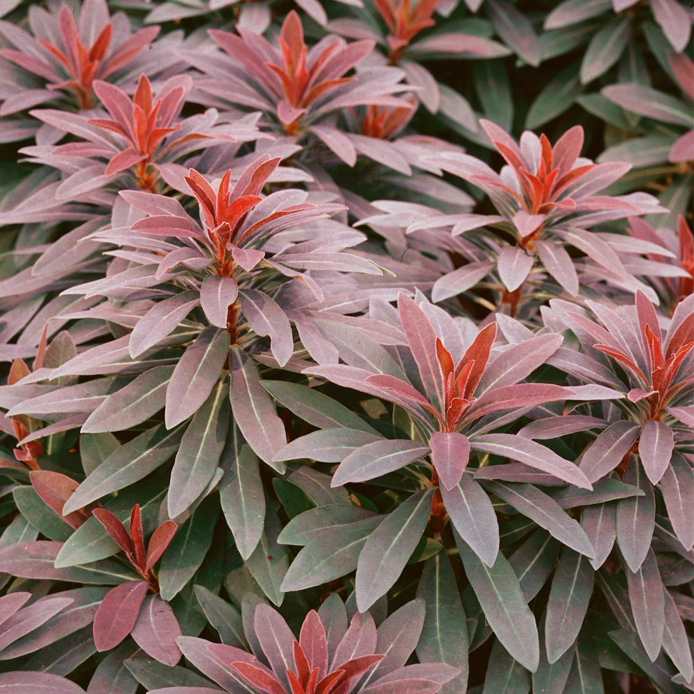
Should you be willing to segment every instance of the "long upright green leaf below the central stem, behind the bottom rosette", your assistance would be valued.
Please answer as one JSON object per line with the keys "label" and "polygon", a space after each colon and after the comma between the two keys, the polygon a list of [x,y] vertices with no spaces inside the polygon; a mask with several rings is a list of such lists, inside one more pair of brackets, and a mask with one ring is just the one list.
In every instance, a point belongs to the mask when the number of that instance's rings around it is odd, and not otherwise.
{"label": "long upright green leaf below the central stem, behind the bottom rosette", "polygon": [[427,559],[417,585],[417,597],[425,603],[424,626],[417,644],[423,663],[448,663],[460,674],[441,690],[465,691],[468,680],[468,629],[455,575],[446,552]]}

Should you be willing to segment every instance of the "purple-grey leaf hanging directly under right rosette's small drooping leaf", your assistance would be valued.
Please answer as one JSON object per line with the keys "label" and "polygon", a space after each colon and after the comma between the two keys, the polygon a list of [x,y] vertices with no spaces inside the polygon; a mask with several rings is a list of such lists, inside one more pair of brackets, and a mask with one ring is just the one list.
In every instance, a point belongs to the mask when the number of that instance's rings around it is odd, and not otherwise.
{"label": "purple-grey leaf hanging directly under right rosette's small drooping leaf", "polygon": [[627,566],[634,572],[650,548],[655,527],[655,496],[641,465],[633,458],[624,481],[644,492],[644,496],[622,499],[617,506],[617,542]]}

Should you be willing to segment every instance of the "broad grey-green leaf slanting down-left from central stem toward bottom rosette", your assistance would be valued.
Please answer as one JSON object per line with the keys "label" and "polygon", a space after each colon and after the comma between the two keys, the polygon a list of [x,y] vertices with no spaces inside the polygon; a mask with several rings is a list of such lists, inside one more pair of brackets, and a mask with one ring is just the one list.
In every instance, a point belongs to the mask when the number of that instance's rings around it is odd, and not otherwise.
{"label": "broad grey-green leaf slanting down-left from central stem toward bottom rosette", "polygon": [[369,609],[398,580],[424,532],[433,493],[430,488],[410,496],[369,536],[357,563],[359,611]]}

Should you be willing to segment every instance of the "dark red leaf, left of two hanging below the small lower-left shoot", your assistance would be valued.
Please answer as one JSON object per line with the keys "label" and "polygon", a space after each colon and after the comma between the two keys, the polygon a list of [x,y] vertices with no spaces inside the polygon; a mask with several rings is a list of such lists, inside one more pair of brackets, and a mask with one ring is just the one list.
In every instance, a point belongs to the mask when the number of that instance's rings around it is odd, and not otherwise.
{"label": "dark red leaf, left of two hanging below the small lower-left shoot", "polygon": [[108,591],[94,615],[96,650],[111,650],[130,634],[148,589],[146,581],[132,581]]}

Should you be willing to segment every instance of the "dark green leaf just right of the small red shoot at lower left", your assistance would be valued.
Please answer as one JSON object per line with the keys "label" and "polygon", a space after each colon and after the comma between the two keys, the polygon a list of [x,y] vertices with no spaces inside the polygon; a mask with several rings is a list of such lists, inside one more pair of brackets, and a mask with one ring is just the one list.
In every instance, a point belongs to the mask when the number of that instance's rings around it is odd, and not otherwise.
{"label": "dark green leaf just right of the small red shoot at lower left", "polygon": [[168,602],[178,595],[205,560],[218,514],[217,500],[208,497],[178,529],[159,564],[162,600]]}

